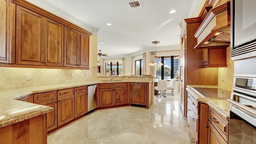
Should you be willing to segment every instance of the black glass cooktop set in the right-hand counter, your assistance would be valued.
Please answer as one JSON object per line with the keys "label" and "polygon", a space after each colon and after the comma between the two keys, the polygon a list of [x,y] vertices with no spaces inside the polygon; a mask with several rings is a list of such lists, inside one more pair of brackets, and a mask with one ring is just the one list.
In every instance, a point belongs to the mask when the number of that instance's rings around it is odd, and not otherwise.
{"label": "black glass cooktop set in the right-hand counter", "polygon": [[[194,88],[194,87],[193,87]],[[231,96],[231,92],[221,88],[194,88],[207,98],[224,98],[228,99]]]}

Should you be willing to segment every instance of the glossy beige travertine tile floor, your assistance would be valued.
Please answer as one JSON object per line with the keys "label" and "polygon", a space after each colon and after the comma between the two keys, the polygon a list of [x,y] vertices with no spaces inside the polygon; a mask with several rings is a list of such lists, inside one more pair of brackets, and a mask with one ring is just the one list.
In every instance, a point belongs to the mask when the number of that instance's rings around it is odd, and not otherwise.
{"label": "glossy beige travertine tile floor", "polygon": [[48,144],[190,144],[180,96],[157,98],[149,109],[96,110],[50,134]]}

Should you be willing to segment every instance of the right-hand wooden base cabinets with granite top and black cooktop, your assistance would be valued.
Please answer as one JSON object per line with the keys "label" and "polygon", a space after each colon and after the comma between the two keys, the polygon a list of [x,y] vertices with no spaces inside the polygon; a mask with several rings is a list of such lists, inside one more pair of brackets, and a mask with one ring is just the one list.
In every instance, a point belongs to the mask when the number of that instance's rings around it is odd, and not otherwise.
{"label": "right-hand wooden base cabinets with granite top and black cooktop", "polygon": [[228,144],[231,92],[217,86],[188,85],[188,131],[192,142]]}

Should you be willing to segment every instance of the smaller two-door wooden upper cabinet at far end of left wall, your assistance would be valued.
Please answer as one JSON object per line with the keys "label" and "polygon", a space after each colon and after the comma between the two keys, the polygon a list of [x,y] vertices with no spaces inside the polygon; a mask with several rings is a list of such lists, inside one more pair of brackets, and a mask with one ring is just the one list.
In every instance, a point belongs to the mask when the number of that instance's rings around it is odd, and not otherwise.
{"label": "smaller two-door wooden upper cabinet at far end of left wall", "polygon": [[64,66],[89,67],[89,36],[64,26]]}

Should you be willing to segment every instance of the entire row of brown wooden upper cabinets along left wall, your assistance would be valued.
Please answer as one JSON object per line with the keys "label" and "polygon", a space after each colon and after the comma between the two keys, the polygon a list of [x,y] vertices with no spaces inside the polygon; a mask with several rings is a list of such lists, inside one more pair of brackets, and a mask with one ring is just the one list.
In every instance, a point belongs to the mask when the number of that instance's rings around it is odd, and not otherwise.
{"label": "entire row of brown wooden upper cabinets along left wall", "polygon": [[0,0],[0,22],[0,63],[89,69],[91,32],[19,0]]}

